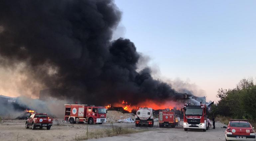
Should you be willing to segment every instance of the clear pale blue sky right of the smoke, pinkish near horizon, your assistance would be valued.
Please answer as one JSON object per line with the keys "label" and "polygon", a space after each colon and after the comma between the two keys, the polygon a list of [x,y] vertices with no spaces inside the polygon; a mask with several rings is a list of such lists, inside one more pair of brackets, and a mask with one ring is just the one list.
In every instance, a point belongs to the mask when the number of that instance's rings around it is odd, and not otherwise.
{"label": "clear pale blue sky right of the smoke, pinkish near horizon", "polygon": [[115,0],[115,36],[151,57],[161,76],[195,83],[207,100],[218,88],[256,77],[256,1]]}

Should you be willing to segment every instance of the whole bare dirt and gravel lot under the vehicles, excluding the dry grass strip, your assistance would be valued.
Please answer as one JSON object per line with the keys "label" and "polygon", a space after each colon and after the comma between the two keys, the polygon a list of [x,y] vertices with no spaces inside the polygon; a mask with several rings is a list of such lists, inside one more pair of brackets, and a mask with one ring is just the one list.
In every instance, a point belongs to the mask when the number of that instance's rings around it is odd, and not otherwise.
{"label": "whole bare dirt and gravel lot under the vehicles, excluding the dry grass strip", "polygon": [[[131,129],[139,129],[140,127],[135,128],[134,123],[114,123],[114,126],[128,127]],[[159,128],[157,124],[153,128],[143,129],[145,132],[138,132],[127,135],[119,135],[114,137],[106,137],[92,140],[100,141],[126,141],[126,140],[177,140],[177,141],[219,141],[225,140],[224,130],[222,127],[223,124],[216,122],[216,129],[210,129],[206,132],[192,130],[184,131],[181,128]],[[157,127],[157,128],[156,128]],[[110,123],[104,123],[102,125],[94,124],[88,125],[88,130],[96,131],[101,129],[112,128]],[[70,141],[75,140],[79,136],[84,136],[86,134],[87,124],[70,124],[69,122],[57,122],[54,120],[53,126],[50,130],[37,128],[32,130],[25,128],[25,120],[5,120],[4,123],[0,124],[0,140],[1,141]]]}

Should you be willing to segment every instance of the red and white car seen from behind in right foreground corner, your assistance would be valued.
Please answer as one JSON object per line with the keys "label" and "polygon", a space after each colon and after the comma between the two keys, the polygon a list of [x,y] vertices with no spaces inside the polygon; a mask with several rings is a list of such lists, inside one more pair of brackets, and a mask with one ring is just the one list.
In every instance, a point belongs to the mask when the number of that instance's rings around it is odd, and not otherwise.
{"label": "red and white car seen from behind in right foreground corner", "polygon": [[255,141],[254,127],[244,119],[230,119],[225,131],[226,141]]}

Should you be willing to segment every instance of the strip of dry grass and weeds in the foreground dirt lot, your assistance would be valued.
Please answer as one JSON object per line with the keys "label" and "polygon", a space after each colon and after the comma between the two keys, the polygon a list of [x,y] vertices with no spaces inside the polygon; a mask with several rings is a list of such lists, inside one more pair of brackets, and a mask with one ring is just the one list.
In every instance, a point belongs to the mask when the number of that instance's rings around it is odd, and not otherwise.
{"label": "strip of dry grass and weeds in the foreground dirt lot", "polygon": [[114,126],[114,128],[105,128],[105,129],[94,129],[90,131],[85,131],[84,135],[75,135],[75,140],[88,140],[88,139],[97,139],[103,137],[112,137],[117,135],[124,135],[136,132],[142,132],[143,130],[136,130],[128,127]]}

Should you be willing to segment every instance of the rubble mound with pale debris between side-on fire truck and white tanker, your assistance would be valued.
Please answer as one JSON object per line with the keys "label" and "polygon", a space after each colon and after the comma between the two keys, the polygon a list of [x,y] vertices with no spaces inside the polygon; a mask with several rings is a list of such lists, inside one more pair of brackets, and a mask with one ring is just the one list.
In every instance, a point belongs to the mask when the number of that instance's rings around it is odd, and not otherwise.
{"label": "rubble mound with pale debris between side-on fire truck and white tanker", "polygon": [[107,122],[134,123],[135,115],[132,113],[121,113],[119,111],[108,111]]}

